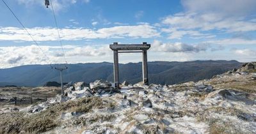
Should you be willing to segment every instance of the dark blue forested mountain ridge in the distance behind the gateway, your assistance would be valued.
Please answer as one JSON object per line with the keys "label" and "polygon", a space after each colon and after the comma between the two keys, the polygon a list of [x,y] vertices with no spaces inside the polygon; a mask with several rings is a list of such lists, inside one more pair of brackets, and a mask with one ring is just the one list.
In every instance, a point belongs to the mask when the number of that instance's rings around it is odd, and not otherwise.
{"label": "dark blue forested mountain ridge in the distance behind the gateway", "polygon": [[[214,75],[239,68],[243,63],[238,61],[186,61],[148,62],[149,83],[179,84],[211,78]],[[127,80],[132,84],[142,79],[141,63],[120,64],[120,82]],[[69,64],[63,72],[64,82],[93,82],[102,79],[113,81],[113,63],[79,63]],[[26,65],[0,69],[0,86],[43,86],[49,81],[60,81],[60,72],[49,65]]]}

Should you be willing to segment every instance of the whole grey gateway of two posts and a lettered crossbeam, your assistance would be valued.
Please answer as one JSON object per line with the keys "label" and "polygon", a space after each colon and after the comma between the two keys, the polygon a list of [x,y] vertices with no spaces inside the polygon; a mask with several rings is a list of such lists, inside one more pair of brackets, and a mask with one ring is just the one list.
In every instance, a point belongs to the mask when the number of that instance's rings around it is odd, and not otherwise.
{"label": "whole grey gateway of two posts and a lettered crossbeam", "polygon": [[147,50],[150,48],[150,44],[143,42],[142,44],[118,44],[114,42],[113,45],[109,45],[109,48],[114,53],[114,82],[115,88],[119,88],[119,70],[118,70],[118,53],[125,52],[141,52],[142,53],[142,72],[143,72],[143,84],[148,85],[148,66],[147,66]]}

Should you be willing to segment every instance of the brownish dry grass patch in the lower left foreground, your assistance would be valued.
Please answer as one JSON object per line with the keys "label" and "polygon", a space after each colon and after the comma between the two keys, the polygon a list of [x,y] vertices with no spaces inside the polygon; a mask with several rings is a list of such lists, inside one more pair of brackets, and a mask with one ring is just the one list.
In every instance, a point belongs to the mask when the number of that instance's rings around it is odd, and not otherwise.
{"label": "brownish dry grass patch in the lower left foreground", "polygon": [[42,133],[60,126],[60,115],[63,112],[86,113],[95,108],[106,107],[111,108],[114,105],[109,103],[103,105],[101,98],[92,97],[53,105],[38,114],[26,115],[22,112],[1,114],[0,133]]}

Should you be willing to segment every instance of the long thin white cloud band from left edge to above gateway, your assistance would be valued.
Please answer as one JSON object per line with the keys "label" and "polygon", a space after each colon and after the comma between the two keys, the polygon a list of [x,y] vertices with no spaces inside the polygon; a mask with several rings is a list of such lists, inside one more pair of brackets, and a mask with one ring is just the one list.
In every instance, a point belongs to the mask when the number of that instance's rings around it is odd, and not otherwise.
{"label": "long thin white cloud band from left edge to above gateway", "polygon": [[[58,34],[52,27],[34,27],[28,28],[29,33],[36,41],[55,41],[58,40]],[[148,24],[137,26],[115,26],[102,29],[60,29],[62,40],[84,40],[95,38],[152,38],[160,36],[155,27]],[[31,41],[26,31],[18,27],[1,27],[0,40],[12,41]]]}

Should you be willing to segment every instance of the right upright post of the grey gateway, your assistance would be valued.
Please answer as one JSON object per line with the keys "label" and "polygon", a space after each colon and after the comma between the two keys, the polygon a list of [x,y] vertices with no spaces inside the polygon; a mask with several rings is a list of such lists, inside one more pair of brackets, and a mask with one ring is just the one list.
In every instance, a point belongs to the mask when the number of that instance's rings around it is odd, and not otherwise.
{"label": "right upright post of the grey gateway", "polygon": [[143,84],[148,85],[148,59],[147,50],[142,52],[142,70],[143,70]]}

